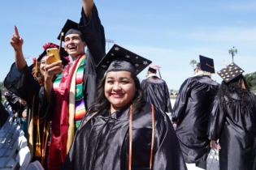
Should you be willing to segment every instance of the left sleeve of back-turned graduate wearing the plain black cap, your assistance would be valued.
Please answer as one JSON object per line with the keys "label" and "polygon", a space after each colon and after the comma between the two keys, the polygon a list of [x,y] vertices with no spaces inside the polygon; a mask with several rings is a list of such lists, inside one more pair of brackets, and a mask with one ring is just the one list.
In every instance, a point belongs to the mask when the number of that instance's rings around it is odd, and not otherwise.
{"label": "left sleeve of back-turned graduate wearing the plain black cap", "polygon": [[172,120],[182,121],[190,95],[191,79],[186,79],[180,87],[180,91],[173,107]]}

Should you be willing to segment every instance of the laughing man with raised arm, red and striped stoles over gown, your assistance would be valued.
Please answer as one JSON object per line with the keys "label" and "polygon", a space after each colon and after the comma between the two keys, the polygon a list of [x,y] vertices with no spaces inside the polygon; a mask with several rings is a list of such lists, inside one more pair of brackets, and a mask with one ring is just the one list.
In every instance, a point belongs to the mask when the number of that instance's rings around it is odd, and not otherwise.
{"label": "laughing man with raised arm, red and striped stoles over gown", "polygon": [[[45,97],[53,118],[48,169],[63,164],[102,75],[96,65],[105,55],[105,36],[93,0],[83,0],[80,23],[67,19],[58,38],[64,41],[72,61],[63,71],[61,62],[46,65]],[[85,46],[89,53],[85,54]]]}

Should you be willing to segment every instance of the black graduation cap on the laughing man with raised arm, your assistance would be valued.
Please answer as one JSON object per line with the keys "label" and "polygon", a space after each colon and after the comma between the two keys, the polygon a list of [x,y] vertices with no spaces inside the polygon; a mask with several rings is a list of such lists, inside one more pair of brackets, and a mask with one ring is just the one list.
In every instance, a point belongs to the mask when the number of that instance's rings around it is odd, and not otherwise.
{"label": "black graduation cap on the laughing man with raised arm", "polygon": [[[66,23],[64,24],[61,32],[59,33],[58,40],[60,40],[62,33],[63,33],[63,37],[62,37],[63,41],[64,41],[64,37],[67,36],[67,33],[68,34],[78,33],[78,34],[82,35],[82,33],[80,31],[79,24],[70,19],[67,19]],[[81,38],[82,38],[82,36],[81,36]]]}

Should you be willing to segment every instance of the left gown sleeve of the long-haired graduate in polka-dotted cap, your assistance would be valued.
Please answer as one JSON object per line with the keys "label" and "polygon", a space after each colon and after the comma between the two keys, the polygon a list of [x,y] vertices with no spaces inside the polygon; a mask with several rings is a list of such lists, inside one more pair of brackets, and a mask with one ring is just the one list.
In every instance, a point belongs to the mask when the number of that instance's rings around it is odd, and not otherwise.
{"label": "left gown sleeve of the long-haired graduate in polka-dotted cap", "polygon": [[219,139],[224,121],[225,113],[221,107],[219,97],[215,96],[210,112],[209,138],[211,140]]}

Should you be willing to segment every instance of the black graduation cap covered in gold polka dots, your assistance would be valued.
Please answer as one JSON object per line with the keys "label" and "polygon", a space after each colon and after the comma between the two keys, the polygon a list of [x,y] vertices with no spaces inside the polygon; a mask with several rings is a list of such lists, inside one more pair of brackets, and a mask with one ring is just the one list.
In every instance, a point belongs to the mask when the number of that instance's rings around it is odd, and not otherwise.
{"label": "black graduation cap covered in gold polka dots", "polygon": [[239,75],[245,72],[239,66],[237,66],[234,62],[230,65],[226,66],[222,70],[219,70],[217,73],[224,80],[224,82],[228,83],[232,81],[232,79],[236,79]]}

